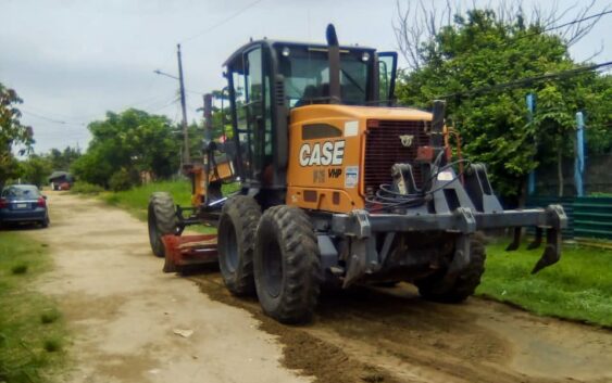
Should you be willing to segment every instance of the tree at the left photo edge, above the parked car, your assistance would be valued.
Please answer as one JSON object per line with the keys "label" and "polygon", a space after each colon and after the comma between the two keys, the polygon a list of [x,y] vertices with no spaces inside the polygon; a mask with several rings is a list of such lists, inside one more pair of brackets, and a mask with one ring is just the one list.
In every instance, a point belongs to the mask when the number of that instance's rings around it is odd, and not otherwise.
{"label": "tree at the left photo edge, above the parked car", "polygon": [[28,153],[34,143],[33,130],[21,124],[22,116],[16,107],[23,101],[17,93],[0,84],[0,184],[16,176],[17,163],[13,149],[23,145],[20,154]]}

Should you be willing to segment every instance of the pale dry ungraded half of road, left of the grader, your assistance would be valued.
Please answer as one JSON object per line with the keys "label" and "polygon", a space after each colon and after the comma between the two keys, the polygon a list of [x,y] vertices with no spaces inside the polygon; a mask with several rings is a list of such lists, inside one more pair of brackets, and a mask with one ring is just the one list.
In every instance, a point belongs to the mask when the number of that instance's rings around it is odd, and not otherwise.
{"label": "pale dry ungraded half of road, left of the grader", "polygon": [[310,381],[280,366],[282,347],[248,311],[163,275],[146,225],[92,200],[49,194],[51,227],[30,234],[55,263],[39,289],[60,302],[74,334],[64,381]]}

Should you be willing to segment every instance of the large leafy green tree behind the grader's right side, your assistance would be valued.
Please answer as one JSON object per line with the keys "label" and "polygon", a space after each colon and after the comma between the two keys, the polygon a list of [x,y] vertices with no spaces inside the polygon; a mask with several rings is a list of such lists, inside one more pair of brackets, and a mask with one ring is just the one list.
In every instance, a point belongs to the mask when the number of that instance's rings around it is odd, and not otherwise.
{"label": "large leafy green tree behind the grader's right side", "polygon": [[[397,94],[401,103],[421,107],[445,98],[447,120],[460,131],[467,156],[488,164],[496,189],[516,202],[526,174],[540,162],[572,153],[574,114],[585,110],[592,120],[603,120],[609,112],[605,117],[602,111],[612,105],[598,93],[608,80],[594,73],[500,85],[579,67],[567,47],[592,25],[563,37],[544,33],[558,22],[554,12],[547,17],[537,12],[530,22],[519,7],[513,13],[472,9],[451,17],[451,12],[450,7],[445,17],[425,12],[423,30],[414,30],[423,23],[409,24],[408,15],[400,13],[398,39],[411,71],[400,74]],[[533,124],[525,106],[529,92],[538,100]]]}

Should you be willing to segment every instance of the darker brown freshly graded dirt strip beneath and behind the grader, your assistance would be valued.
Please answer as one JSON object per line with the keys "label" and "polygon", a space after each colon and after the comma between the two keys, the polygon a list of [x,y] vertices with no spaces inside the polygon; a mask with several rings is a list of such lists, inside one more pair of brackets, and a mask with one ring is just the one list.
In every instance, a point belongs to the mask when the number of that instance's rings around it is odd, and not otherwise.
{"label": "darker brown freshly graded dirt strip beneath and behind the grader", "polygon": [[250,311],[279,336],[283,363],[319,382],[612,382],[612,332],[495,302],[421,299],[408,284],[323,294],[315,320],[287,327],[214,270],[190,276],[211,298]]}

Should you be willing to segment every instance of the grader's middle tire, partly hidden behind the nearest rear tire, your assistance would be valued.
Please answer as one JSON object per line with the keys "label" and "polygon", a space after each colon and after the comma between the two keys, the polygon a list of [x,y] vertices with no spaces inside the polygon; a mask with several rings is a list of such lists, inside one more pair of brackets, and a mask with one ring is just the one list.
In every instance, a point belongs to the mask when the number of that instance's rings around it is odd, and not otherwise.
{"label": "grader's middle tire, partly hidden behind the nearest rear tire", "polygon": [[230,197],[221,213],[217,229],[218,268],[227,290],[253,295],[253,250],[261,207],[247,195]]}

